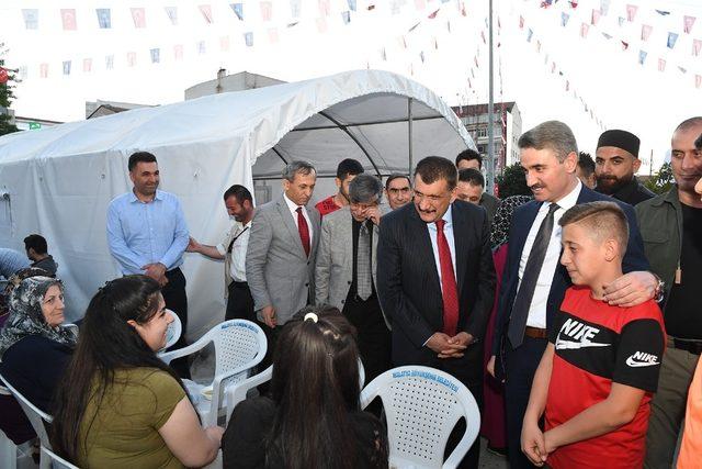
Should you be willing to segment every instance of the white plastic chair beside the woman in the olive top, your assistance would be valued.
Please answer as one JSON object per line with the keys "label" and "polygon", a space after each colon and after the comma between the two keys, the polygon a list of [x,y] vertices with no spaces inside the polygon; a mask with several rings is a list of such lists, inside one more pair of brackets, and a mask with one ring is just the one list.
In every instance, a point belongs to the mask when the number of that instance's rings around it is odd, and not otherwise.
{"label": "white plastic chair beside the woman in the olive top", "polygon": [[261,362],[268,349],[261,327],[251,321],[230,320],[216,325],[194,344],[161,353],[159,357],[170,364],[176,358],[203,349],[211,342],[215,346],[215,378],[201,392],[206,395],[212,391],[212,401],[207,405],[201,397],[193,397],[204,426],[217,424],[219,414],[229,406],[224,391],[246,379],[248,371]]}

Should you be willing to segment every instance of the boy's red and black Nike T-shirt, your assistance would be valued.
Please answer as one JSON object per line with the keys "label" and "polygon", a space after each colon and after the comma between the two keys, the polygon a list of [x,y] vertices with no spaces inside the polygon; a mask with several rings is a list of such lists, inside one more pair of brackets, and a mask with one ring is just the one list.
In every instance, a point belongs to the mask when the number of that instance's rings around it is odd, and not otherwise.
{"label": "boy's red and black Nike T-shirt", "polygon": [[555,346],[546,400],[545,428],[564,424],[604,401],[612,382],[646,391],[632,422],[608,434],[556,449],[547,464],[557,468],[638,468],[646,449],[649,401],[658,386],[665,350],[660,309],[649,300],[633,308],[612,306],[570,287],[550,331]]}

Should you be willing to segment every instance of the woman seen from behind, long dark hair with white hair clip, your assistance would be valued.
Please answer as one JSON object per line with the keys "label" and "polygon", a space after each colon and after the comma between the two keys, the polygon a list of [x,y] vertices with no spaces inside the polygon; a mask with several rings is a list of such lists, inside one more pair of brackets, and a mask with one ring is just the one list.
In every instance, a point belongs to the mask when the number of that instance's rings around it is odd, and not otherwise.
{"label": "woman seen from behind, long dark hair with white hair clip", "polygon": [[282,328],[271,397],[234,410],[225,468],[387,468],[387,437],[359,406],[355,331],[331,306],[308,306]]}

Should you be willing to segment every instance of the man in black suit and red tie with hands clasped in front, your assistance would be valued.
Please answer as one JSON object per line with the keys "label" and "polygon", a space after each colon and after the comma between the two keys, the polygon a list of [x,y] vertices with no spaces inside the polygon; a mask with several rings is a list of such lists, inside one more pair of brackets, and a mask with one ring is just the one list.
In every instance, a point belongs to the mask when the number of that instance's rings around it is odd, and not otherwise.
{"label": "man in black suit and red tie with hands clasped in front", "polygon": [[[456,182],[449,159],[417,164],[414,203],[381,219],[377,291],[393,326],[393,365],[446,371],[479,404],[495,267],[485,211],[456,200]],[[462,467],[477,468],[478,458],[476,440]]]}

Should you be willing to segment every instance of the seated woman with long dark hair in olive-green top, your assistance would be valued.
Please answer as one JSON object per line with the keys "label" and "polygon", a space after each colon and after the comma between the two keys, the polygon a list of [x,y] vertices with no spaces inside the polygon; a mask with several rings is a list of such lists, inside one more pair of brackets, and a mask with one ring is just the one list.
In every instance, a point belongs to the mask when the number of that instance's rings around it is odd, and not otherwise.
{"label": "seated woman with long dark hair in olive-green top", "polygon": [[54,449],[83,468],[202,467],[223,428],[203,428],[178,375],[156,356],[172,322],[157,281],[128,276],[92,298],[58,388]]}

